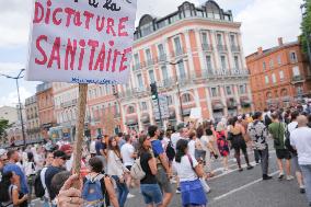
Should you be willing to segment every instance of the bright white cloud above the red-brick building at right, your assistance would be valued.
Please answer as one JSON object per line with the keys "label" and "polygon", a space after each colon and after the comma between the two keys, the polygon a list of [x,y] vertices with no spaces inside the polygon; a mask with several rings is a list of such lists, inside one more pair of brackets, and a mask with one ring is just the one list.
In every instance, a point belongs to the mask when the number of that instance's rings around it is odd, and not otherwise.
{"label": "bright white cloud above the red-brick building at right", "polygon": [[254,0],[235,18],[242,22],[244,55],[277,46],[277,38],[284,42],[297,41],[300,35],[300,4],[302,0]]}

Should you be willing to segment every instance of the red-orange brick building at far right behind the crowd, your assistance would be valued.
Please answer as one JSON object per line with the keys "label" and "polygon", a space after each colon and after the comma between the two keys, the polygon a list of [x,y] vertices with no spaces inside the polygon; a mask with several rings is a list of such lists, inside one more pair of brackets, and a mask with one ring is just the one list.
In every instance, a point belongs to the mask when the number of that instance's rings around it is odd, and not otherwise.
{"label": "red-orange brick building at far right behind the crowd", "polygon": [[278,41],[277,47],[246,57],[255,110],[288,107],[310,96],[311,73],[300,44]]}

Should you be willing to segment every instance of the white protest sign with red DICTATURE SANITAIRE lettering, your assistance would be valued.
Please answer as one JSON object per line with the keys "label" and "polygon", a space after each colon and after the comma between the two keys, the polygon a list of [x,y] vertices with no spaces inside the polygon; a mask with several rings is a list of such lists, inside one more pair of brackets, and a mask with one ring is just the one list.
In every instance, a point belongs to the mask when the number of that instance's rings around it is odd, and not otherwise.
{"label": "white protest sign with red DICTATURE SANITAIRE lettering", "polygon": [[35,0],[26,80],[126,83],[136,8],[137,0]]}

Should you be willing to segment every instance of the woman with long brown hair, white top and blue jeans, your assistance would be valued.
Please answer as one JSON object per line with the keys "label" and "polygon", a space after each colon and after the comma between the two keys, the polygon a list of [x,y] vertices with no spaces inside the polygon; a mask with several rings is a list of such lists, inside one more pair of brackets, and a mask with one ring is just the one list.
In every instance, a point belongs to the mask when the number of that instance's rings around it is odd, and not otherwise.
{"label": "woman with long brown hair, white top and blue jeans", "polygon": [[107,151],[107,174],[116,182],[118,191],[118,204],[120,207],[124,207],[129,193],[125,180],[127,173],[129,173],[129,170],[123,164],[117,140],[115,137],[111,137],[108,140]]}

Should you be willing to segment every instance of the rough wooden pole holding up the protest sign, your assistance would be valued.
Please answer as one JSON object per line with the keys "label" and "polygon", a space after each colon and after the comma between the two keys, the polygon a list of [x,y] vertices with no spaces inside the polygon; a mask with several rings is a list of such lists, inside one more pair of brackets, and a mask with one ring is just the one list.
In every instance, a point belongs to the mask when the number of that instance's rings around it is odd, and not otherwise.
{"label": "rough wooden pole holding up the protest sign", "polygon": [[[79,84],[79,99],[78,99],[78,122],[77,122],[77,137],[73,146],[73,163],[72,174],[80,175],[81,158],[82,158],[82,143],[83,143],[83,130],[84,118],[88,96],[88,84]],[[76,188],[80,188],[79,184],[74,185]]]}

